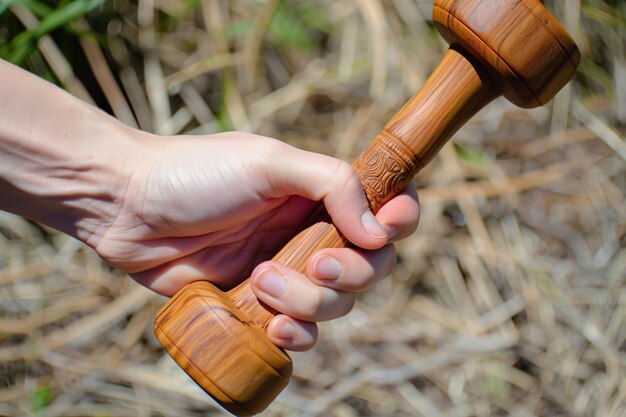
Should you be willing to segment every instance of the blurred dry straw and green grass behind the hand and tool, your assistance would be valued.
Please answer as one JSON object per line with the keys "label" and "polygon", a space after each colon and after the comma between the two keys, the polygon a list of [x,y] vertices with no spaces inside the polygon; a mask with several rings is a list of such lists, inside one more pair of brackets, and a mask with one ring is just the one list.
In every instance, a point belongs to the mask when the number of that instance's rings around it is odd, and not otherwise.
{"label": "blurred dry straw and green grass behind the hand and tool", "polygon": [[[414,181],[393,274],[292,355],[264,416],[626,416],[626,2],[546,5],[582,50],[575,82],[456,134]],[[431,8],[0,0],[0,57],[130,126],[351,161],[447,48]],[[0,213],[0,415],[226,415],[156,342],[164,301]]]}

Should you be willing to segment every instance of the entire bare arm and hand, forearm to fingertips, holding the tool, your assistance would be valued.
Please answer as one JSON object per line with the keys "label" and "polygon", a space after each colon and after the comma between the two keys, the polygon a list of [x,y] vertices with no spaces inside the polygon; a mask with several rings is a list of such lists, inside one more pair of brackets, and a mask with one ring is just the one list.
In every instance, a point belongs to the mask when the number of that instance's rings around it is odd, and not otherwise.
{"label": "entire bare arm and hand, forearm to fingertips, holding the tool", "polygon": [[[311,348],[315,322],[350,311],[417,227],[415,190],[374,217],[349,164],[275,139],[134,130],[1,60],[0,96],[0,209],[76,237],[160,294],[252,276],[283,313],[268,336],[286,349]],[[317,201],[354,247],[317,252],[307,274],[266,261]]]}

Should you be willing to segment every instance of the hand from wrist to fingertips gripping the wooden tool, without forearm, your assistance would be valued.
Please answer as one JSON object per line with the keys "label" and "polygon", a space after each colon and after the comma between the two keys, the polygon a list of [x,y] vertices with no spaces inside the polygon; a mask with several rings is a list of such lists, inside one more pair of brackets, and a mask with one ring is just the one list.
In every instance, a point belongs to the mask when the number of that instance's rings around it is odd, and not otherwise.
{"label": "hand from wrist to fingertips gripping the wooden tool, without forearm", "polygon": [[[417,226],[414,190],[374,218],[356,172],[331,157],[238,132],[150,138],[95,249],[164,295],[197,280],[229,289],[252,274],[259,299],[284,313],[268,334],[287,349],[312,347],[314,322],[350,311],[358,292],[390,273],[390,242]],[[307,275],[266,261],[322,200],[356,247],[320,250]]]}

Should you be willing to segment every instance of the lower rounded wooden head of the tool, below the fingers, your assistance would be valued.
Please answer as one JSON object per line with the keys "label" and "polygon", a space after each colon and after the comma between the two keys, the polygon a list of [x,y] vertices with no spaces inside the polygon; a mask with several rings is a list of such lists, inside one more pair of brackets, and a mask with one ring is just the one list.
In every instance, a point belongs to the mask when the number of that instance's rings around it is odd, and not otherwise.
{"label": "lower rounded wooden head of the tool, below the fingers", "polygon": [[289,356],[208,282],[179,291],[159,311],[154,333],[176,363],[235,415],[263,411],[289,382]]}

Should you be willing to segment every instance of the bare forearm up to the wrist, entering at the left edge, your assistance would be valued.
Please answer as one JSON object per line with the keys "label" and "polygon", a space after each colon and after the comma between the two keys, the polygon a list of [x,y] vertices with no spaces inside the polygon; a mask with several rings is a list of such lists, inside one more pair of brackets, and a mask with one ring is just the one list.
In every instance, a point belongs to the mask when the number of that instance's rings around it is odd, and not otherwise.
{"label": "bare forearm up to the wrist, entering at the left edge", "polygon": [[136,131],[0,60],[0,209],[89,242],[119,210]]}

